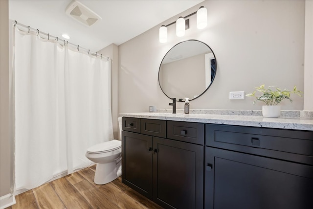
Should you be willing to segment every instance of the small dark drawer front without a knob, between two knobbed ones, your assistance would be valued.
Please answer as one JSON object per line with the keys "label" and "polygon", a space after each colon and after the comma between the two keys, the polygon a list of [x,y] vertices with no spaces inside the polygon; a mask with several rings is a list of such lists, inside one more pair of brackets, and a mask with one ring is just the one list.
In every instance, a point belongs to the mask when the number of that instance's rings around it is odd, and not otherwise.
{"label": "small dark drawer front without a knob, between two knobbed ones", "polygon": [[141,119],[141,134],[166,138],[166,120]]}

